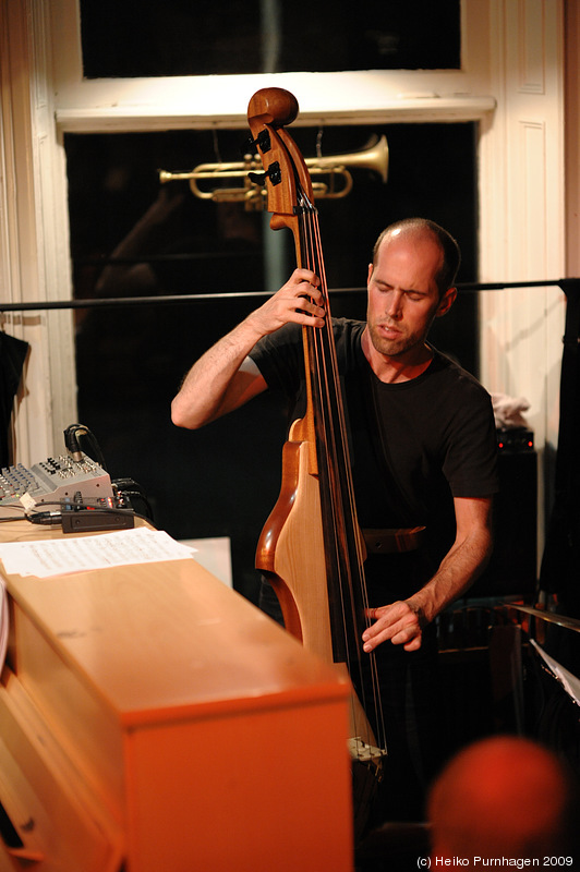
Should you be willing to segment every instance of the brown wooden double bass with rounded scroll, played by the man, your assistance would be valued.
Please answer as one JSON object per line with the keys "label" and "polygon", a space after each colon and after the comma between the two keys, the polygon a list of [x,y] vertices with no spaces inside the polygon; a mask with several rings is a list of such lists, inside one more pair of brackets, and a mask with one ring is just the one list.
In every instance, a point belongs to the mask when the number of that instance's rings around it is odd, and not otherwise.
{"label": "brown wooden double bass with rounded scroll, played by the man", "polygon": [[286,130],[298,111],[295,97],[275,87],[254,94],[247,109],[270,227],[292,232],[297,264],[318,276],[326,312],[324,327],[302,328],[306,411],[292,423],[282,449],[280,493],[258,541],[256,568],[276,592],[287,630],[350,677],[348,746],[357,834],[383,777],[387,749],[374,654],[362,651],[368,607],[365,545],[357,520],[318,216],[307,167]]}

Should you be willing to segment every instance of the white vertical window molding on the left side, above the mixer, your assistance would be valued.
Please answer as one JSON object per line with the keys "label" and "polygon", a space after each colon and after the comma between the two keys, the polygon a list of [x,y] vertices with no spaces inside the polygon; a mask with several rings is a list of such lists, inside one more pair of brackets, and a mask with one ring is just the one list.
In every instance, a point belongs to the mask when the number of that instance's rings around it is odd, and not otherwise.
{"label": "white vertical window molding on the left side, above the mixer", "polygon": [[[2,0],[2,240],[9,252],[3,299],[12,303],[71,296],[68,205],[62,148],[50,89],[46,4]],[[19,461],[36,462],[62,446],[62,422],[75,416],[72,316],[5,313],[4,328],[31,346],[14,436]]]}

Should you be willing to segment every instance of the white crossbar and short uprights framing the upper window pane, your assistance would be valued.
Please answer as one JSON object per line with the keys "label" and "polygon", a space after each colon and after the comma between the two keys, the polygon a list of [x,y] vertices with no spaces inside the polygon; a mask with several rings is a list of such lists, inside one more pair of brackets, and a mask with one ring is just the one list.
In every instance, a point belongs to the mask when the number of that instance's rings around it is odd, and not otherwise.
{"label": "white crossbar and short uprights framing the upper window pane", "polygon": [[471,121],[493,111],[487,89],[487,0],[462,0],[461,70],[83,77],[76,0],[51,3],[56,116],[61,132],[246,128],[252,95],[276,85],[300,104],[298,125]]}

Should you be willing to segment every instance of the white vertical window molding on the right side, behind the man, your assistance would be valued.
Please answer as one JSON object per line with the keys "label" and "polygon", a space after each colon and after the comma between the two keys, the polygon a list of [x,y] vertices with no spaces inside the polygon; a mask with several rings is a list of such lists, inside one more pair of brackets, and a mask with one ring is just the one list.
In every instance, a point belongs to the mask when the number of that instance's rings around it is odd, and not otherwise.
{"label": "white vertical window molding on the right side, behind the man", "polygon": [[[497,111],[482,130],[481,278],[565,276],[564,40],[560,0],[493,0]],[[541,51],[541,57],[537,52]],[[539,553],[558,437],[565,296],[558,288],[481,294],[482,380],[525,397],[539,451]]]}

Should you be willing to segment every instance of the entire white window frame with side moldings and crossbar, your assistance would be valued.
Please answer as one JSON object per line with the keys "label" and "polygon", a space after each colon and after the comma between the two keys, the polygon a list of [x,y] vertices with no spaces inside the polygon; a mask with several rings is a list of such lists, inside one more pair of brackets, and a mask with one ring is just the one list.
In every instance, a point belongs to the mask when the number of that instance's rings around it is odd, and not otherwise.
{"label": "entire white window frame with side moldings and crossbar", "polygon": [[[268,85],[297,95],[297,124],[478,121],[480,279],[565,275],[563,0],[462,0],[458,71],[93,81],[82,76],[77,0],[0,0],[0,12],[4,299],[72,294],[64,133],[246,128],[250,97]],[[482,380],[527,397],[542,457],[557,440],[564,296],[484,293],[480,315]],[[75,420],[72,325],[62,313],[4,318],[33,347],[16,417],[23,462],[59,450]]]}

